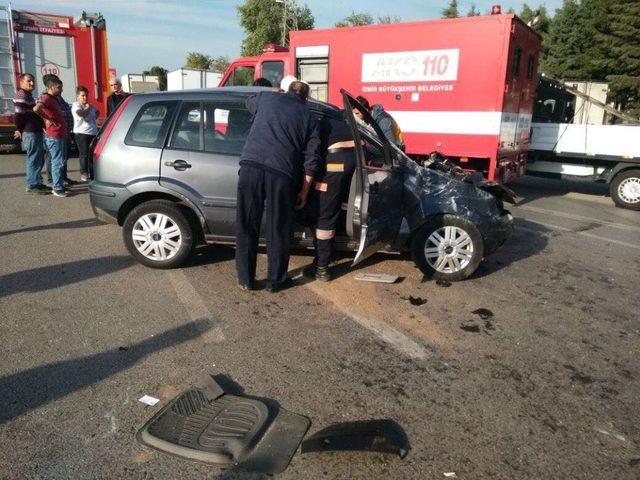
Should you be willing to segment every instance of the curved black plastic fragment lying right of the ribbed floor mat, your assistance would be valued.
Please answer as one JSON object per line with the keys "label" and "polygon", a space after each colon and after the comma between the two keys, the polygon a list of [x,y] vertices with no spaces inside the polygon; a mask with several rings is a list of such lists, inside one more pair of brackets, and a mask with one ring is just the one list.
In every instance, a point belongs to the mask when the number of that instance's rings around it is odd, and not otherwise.
{"label": "curved black plastic fragment lying right of the ribbed floor mat", "polygon": [[302,453],[380,452],[405,458],[411,450],[404,429],[394,420],[360,420],[330,425],[302,442]]}

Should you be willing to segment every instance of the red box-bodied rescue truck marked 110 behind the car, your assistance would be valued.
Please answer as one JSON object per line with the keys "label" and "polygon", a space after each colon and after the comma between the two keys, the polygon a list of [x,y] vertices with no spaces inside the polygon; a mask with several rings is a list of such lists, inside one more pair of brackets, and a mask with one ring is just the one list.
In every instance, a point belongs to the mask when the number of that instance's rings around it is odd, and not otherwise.
{"label": "red box-bodied rescue truck marked 110 behind the car", "polygon": [[407,153],[437,150],[462,168],[507,182],[524,173],[540,37],[512,14],[294,31],[235,60],[220,86],[295,75],[340,105],[340,89],[380,103]]}

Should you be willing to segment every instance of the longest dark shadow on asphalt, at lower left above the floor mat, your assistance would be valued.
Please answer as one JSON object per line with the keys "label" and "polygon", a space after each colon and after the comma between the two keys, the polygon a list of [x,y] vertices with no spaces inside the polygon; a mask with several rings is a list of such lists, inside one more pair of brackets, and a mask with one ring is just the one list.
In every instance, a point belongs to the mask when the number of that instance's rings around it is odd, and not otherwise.
{"label": "longest dark shadow on asphalt, at lower left above the floor mat", "polygon": [[129,345],[0,378],[0,424],[125,370],[140,359],[198,338],[213,324],[196,320]]}

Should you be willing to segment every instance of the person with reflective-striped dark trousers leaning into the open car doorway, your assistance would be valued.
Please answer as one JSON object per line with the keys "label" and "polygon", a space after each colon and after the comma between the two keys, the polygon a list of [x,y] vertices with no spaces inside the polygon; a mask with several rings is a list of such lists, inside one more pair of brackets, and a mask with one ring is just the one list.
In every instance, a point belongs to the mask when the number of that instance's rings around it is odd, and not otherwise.
{"label": "person with reflective-striped dark trousers leaning into the open car doorway", "polygon": [[336,224],[349,198],[356,152],[353,133],[343,118],[325,117],[321,121],[320,132],[326,148],[326,162],[321,176],[314,183],[314,194],[318,198],[316,255],[313,268],[306,273],[315,275],[316,280],[327,282],[331,279],[329,262]]}

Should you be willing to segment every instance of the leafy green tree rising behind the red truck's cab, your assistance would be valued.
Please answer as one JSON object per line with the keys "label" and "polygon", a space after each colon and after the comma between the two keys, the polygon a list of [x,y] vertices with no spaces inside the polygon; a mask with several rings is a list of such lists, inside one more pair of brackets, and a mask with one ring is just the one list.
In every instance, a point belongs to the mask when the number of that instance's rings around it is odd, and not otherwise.
{"label": "leafy green tree rising behind the red truck's cab", "polygon": [[242,55],[259,55],[267,43],[289,43],[291,30],[310,30],[314,18],[306,5],[295,0],[277,3],[274,0],[245,0],[238,7],[240,26],[245,31]]}

